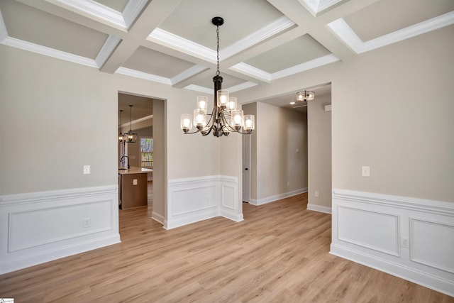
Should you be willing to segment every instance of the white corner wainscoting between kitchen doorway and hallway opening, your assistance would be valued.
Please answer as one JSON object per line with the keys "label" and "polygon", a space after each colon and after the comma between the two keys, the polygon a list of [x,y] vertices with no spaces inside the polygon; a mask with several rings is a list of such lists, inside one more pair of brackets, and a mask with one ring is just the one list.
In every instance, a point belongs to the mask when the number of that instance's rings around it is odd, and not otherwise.
{"label": "white corner wainscoting between kitchen doorway and hallway opening", "polygon": [[175,228],[216,216],[242,221],[240,205],[237,177],[215,175],[169,180],[164,227]]}

